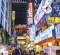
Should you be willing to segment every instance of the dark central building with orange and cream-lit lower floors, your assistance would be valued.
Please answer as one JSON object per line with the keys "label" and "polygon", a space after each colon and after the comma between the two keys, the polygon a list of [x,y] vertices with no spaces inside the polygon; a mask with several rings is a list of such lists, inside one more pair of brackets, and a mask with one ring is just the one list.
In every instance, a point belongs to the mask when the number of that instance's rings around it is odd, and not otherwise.
{"label": "dark central building with orange and cream-lit lower floors", "polygon": [[23,44],[23,47],[26,44],[24,34],[27,34],[27,0],[12,0],[12,23],[12,30],[15,30],[12,31],[12,42]]}

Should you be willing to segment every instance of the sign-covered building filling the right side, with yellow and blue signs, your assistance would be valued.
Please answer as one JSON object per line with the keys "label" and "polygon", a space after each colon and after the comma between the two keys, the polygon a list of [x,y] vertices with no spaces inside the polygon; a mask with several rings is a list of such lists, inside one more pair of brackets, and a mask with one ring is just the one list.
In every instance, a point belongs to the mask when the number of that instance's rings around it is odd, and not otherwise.
{"label": "sign-covered building filling the right side, with yellow and blue signs", "polygon": [[[42,0],[40,6],[34,16],[34,25],[36,27],[36,45],[55,46],[59,45],[60,38],[58,34],[60,23],[60,3],[56,1]],[[58,24],[58,25],[57,25]],[[56,31],[55,31],[56,29]],[[59,34],[58,34],[59,35]],[[56,39],[59,39],[56,41]],[[51,45],[50,45],[51,43]]]}

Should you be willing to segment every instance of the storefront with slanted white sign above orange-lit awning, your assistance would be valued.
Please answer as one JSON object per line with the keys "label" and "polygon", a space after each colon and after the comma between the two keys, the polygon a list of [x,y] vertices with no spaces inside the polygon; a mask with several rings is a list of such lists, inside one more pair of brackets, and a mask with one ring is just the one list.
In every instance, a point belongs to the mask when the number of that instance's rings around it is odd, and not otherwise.
{"label": "storefront with slanted white sign above orange-lit awning", "polygon": [[50,44],[55,45],[54,25],[50,26],[48,29],[40,33],[37,39],[38,41],[35,45],[43,45],[43,46],[50,46]]}

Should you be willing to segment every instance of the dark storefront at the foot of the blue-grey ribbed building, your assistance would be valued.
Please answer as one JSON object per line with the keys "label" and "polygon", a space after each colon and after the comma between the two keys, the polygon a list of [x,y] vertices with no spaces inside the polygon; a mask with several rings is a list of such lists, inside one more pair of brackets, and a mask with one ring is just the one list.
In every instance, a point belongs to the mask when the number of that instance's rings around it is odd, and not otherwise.
{"label": "dark storefront at the foot of the blue-grey ribbed building", "polygon": [[0,44],[5,44],[5,45],[9,45],[11,44],[11,41],[9,43],[9,38],[11,38],[9,36],[9,34],[7,33],[6,30],[4,30],[3,28],[0,28]]}

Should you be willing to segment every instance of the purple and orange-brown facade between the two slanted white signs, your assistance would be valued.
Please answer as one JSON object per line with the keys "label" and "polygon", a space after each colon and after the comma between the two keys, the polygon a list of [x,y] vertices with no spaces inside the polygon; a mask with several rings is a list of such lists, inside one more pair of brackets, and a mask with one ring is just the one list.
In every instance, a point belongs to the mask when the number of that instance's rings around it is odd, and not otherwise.
{"label": "purple and orange-brown facade between the two slanted white signs", "polygon": [[43,32],[44,30],[47,29],[47,22],[46,22],[46,18],[45,16],[43,16],[40,21],[38,22],[38,24],[36,25],[36,35],[39,34],[39,32]]}

